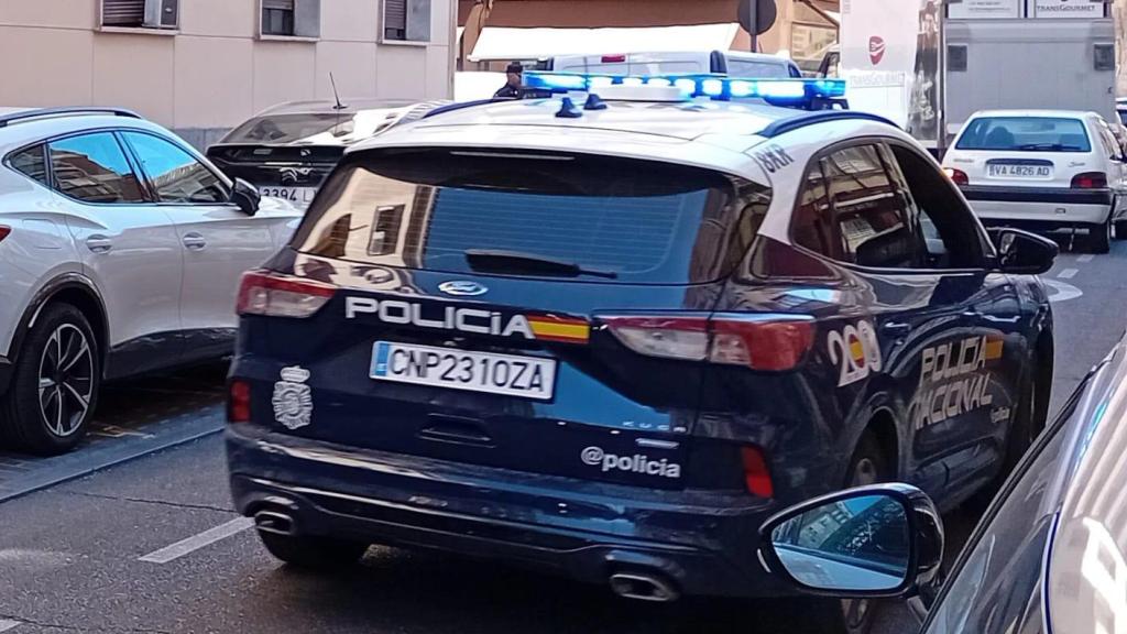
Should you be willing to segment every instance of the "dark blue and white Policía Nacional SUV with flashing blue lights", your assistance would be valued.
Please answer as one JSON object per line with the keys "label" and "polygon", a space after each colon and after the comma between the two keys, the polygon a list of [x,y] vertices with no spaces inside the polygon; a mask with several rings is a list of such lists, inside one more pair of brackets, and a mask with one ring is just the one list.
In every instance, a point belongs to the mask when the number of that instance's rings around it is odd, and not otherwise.
{"label": "dark blue and white Polic\u00eda Nacional SUV with flashing blue lights", "polygon": [[230,479],[274,555],[790,593],[773,512],[886,479],[950,508],[1042,426],[1056,246],[991,239],[884,120],[804,109],[841,82],[526,80],[570,94],[357,144],[245,276]]}

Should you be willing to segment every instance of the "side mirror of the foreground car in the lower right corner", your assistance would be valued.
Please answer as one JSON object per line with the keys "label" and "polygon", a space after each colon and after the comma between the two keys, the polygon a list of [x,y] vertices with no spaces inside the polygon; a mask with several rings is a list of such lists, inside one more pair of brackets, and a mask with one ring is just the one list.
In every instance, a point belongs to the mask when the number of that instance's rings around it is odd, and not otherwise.
{"label": "side mirror of the foreground car in the lower right corner", "polygon": [[906,484],[849,488],[791,507],[760,528],[767,572],[811,595],[911,597],[943,560],[943,520]]}

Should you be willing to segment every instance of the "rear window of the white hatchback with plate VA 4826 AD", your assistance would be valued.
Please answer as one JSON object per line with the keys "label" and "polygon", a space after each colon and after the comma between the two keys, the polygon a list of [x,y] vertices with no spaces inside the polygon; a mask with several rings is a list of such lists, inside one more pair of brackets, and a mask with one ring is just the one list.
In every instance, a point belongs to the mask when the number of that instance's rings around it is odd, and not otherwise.
{"label": "rear window of the white hatchback with plate VA 4826 AD", "polygon": [[955,144],[959,150],[1088,152],[1084,122],[1049,116],[982,116],[967,125]]}

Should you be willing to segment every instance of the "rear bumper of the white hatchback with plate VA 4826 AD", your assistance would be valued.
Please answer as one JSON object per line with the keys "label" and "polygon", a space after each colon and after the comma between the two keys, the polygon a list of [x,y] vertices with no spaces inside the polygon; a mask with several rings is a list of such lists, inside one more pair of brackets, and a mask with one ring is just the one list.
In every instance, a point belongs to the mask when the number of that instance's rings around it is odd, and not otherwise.
{"label": "rear bumper of the white hatchback with plate VA 4826 AD", "polygon": [[1046,228],[1104,222],[1112,199],[1109,190],[987,186],[960,190],[975,215],[984,221],[1024,221]]}

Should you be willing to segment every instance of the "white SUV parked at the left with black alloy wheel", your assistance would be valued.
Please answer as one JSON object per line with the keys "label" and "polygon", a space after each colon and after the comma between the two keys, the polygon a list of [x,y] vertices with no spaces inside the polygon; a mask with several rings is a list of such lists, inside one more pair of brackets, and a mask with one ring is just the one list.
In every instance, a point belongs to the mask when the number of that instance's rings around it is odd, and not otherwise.
{"label": "white SUV parked at the left with black alloy wheel", "polygon": [[228,354],[299,215],[127,111],[0,109],[0,443],[65,451],[103,380]]}

